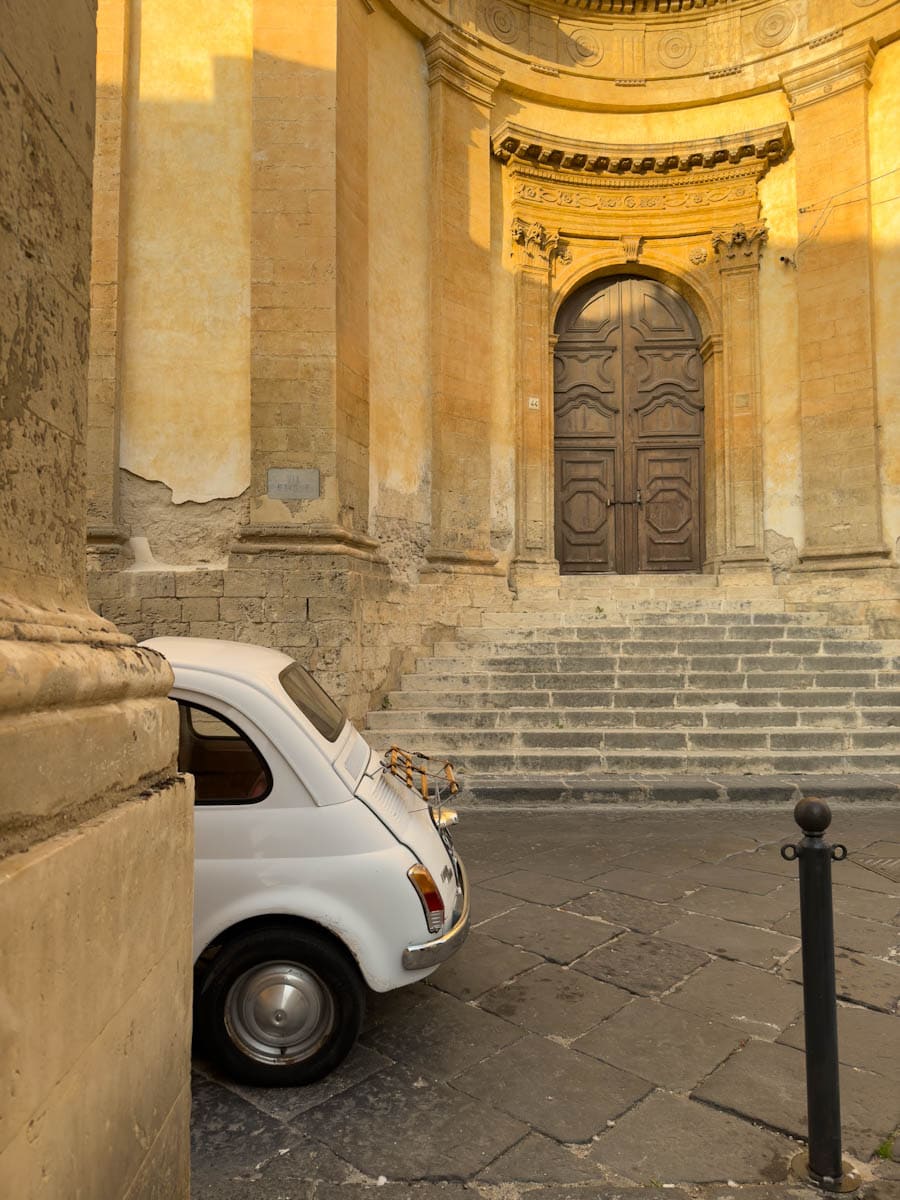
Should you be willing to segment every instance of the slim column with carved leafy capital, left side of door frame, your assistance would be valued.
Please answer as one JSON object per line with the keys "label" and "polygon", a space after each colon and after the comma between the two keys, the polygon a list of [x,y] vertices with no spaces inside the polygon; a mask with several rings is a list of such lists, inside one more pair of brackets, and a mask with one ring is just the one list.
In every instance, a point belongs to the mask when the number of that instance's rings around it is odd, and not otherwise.
{"label": "slim column with carved leafy capital, left side of door frame", "polygon": [[560,250],[558,230],[512,221],[516,286],[516,557],[512,578],[558,586],[553,547],[553,346],[550,286]]}

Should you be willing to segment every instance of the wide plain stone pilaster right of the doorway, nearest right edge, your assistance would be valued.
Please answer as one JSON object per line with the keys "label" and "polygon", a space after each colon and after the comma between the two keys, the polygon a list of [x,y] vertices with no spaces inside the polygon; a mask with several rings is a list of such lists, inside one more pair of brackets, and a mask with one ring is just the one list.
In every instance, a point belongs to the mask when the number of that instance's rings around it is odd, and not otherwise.
{"label": "wide plain stone pilaster right of the doorway, nearest right edge", "polygon": [[797,295],[808,568],[877,565],[884,548],[869,198],[874,43],[782,83],[797,148]]}

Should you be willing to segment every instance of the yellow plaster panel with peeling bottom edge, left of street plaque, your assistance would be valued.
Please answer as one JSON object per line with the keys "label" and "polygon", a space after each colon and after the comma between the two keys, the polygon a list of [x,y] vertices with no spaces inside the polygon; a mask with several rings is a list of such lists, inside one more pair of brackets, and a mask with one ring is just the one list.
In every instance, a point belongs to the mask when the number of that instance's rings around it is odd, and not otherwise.
{"label": "yellow plaster panel with peeling bottom edge, left of street plaque", "polygon": [[250,484],[252,10],[132,17],[120,456],[176,504]]}

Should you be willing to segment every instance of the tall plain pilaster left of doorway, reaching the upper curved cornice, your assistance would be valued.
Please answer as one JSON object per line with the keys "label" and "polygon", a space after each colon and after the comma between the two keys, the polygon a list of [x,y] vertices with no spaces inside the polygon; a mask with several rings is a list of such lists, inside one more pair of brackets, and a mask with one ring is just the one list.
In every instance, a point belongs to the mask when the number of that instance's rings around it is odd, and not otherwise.
{"label": "tall plain pilaster left of doorway, reaching the upper curved cornice", "polygon": [[491,128],[499,72],[445,34],[431,86],[432,570],[496,570],[491,550]]}

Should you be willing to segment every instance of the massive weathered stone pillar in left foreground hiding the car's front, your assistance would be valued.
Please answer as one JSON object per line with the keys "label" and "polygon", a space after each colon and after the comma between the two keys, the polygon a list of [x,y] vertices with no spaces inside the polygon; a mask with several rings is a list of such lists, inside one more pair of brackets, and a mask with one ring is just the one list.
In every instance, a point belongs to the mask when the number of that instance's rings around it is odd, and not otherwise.
{"label": "massive weathered stone pillar in left foreground hiding the car's front", "polygon": [[0,26],[0,1178],[184,1200],[192,786],[168,667],[85,593],[94,6]]}

